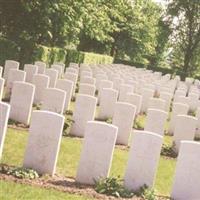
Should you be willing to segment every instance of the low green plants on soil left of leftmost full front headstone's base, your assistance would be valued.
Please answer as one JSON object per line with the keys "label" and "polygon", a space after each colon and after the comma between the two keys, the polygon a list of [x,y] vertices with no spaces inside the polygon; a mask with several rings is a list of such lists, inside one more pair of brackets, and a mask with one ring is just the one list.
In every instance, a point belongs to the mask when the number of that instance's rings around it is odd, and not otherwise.
{"label": "low green plants on soil left of leftmost full front headstone's base", "polygon": [[12,176],[14,176],[16,178],[20,178],[20,179],[39,178],[39,175],[35,170],[22,168],[22,167],[15,168],[15,167],[10,167],[8,165],[1,165],[0,172],[7,174],[7,175],[12,175]]}

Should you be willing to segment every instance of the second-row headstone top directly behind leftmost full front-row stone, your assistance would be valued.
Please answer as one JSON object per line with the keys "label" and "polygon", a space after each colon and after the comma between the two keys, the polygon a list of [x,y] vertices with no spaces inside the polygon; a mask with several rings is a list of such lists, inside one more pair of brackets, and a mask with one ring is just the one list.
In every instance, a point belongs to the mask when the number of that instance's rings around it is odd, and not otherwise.
{"label": "second-row headstone top directly behind leftmost full front-row stone", "polygon": [[66,92],[57,88],[47,88],[43,93],[41,110],[63,114]]}

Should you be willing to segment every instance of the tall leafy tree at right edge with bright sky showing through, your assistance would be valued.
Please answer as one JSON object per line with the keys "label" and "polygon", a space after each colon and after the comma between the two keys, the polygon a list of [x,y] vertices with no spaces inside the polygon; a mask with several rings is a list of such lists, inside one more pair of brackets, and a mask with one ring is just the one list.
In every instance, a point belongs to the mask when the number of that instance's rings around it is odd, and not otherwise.
{"label": "tall leafy tree at right edge with bright sky showing through", "polygon": [[186,75],[193,75],[200,68],[200,2],[173,0],[168,6],[168,16],[173,30],[173,63]]}

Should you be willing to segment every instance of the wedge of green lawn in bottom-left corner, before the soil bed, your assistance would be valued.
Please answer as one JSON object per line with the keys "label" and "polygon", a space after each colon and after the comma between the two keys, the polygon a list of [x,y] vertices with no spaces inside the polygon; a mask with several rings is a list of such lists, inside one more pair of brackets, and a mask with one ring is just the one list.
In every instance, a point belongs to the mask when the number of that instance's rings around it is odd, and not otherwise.
{"label": "wedge of green lawn in bottom-left corner, before the soil bed", "polygon": [[90,198],[75,194],[58,192],[53,189],[41,189],[10,181],[0,181],[1,200],[89,200]]}

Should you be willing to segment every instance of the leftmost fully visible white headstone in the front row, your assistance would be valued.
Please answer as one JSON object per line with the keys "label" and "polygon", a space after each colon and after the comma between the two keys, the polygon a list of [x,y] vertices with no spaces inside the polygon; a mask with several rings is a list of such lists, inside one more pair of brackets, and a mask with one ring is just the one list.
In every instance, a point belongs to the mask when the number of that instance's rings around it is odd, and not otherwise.
{"label": "leftmost fully visible white headstone in the front row", "polygon": [[23,167],[54,175],[64,120],[64,116],[57,113],[33,112]]}

